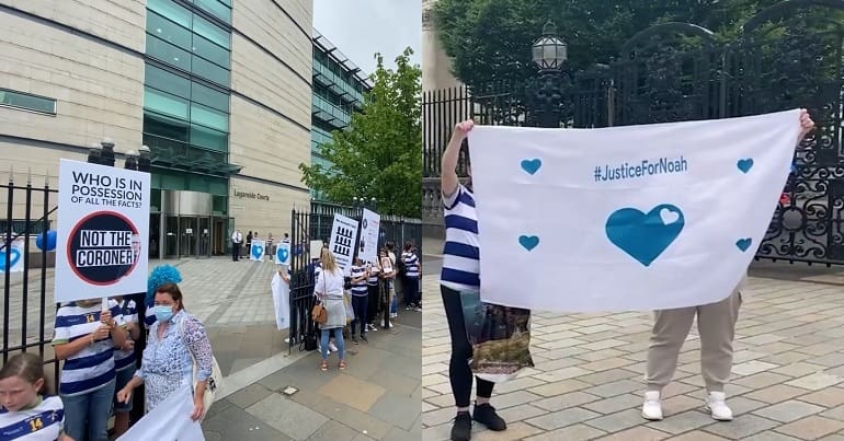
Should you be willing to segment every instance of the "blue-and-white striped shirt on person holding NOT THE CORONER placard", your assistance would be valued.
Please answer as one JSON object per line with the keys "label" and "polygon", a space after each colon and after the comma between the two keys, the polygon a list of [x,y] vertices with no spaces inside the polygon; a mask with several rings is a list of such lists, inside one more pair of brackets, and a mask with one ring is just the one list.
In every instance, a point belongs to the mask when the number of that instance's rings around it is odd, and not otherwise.
{"label": "blue-and-white striped shirt on person holding NOT THE CORONER placard", "polygon": [[[123,326],[117,302],[110,299],[109,307],[117,325]],[[76,302],[59,307],[56,312],[53,346],[88,338],[89,334],[100,327],[101,311],[99,302],[89,307],[79,306]],[[65,360],[58,391],[60,395],[82,395],[103,387],[114,379],[114,345],[111,337],[106,337],[87,345]]]}

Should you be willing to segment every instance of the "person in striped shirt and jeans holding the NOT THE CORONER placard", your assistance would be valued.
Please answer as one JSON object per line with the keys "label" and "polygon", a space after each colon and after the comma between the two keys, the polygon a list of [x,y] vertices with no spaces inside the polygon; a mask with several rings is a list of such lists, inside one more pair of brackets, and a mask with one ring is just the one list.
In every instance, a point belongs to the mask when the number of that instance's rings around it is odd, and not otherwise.
{"label": "person in striped shirt and jeans holding the NOT THE CORONER placard", "polygon": [[126,343],[117,302],[69,302],[56,312],[53,350],[64,360],[58,392],[75,440],[106,441],[116,382],[114,348]]}

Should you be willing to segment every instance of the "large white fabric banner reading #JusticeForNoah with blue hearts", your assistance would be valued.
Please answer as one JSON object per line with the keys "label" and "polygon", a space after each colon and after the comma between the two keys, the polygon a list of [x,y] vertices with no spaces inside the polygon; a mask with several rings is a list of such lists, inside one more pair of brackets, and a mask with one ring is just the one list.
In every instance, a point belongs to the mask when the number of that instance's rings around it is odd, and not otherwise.
{"label": "large white fabric banner reading #JusticeForNoah with blue hearts", "polygon": [[799,111],[469,132],[481,299],[561,312],[712,303],[765,235]]}

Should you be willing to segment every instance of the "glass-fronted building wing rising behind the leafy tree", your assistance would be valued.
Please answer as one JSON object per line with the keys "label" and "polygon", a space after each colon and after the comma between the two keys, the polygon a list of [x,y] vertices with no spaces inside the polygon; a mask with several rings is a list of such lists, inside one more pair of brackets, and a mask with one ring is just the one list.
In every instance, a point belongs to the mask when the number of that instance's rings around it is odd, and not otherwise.
{"label": "glass-fronted building wing rising behind the leafy tree", "polygon": [[[352,114],[363,108],[364,94],[370,85],[366,74],[317,31],[313,31],[312,80],[310,162],[330,169],[332,164],[323,158],[322,146],[331,142],[333,130],[349,127]],[[311,197],[322,199],[322,195],[313,190]]]}

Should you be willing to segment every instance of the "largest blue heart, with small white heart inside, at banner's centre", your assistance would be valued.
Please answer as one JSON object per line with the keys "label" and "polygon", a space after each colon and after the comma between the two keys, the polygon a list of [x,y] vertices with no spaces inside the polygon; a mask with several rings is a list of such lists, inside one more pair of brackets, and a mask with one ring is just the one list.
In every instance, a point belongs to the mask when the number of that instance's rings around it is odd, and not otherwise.
{"label": "largest blue heart, with small white heart inside, at banner's centre", "polygon": [[647,214],[623,208],[606,220],[606,236],[645,266],[650,266],[683,231],[683,211],[670,204],[654,207]]}

